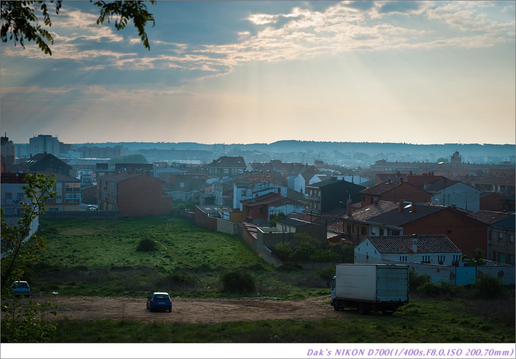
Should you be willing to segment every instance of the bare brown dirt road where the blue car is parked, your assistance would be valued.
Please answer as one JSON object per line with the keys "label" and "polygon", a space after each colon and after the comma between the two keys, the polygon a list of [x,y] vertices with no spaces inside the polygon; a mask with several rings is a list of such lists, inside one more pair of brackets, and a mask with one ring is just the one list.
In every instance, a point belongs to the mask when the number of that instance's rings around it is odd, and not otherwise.
{"label": "bare brown dirt road where the blue car is parked", "polygon": [[300,301],[276,299],[188,299],[172,298],[172,313],[149,312],[146,299],[131,297],[31,296],[59,306],[56,319],[137,320],[141,322],[218,323],[236,320],[322,318],[345,315],[330,306],[330,296]]}

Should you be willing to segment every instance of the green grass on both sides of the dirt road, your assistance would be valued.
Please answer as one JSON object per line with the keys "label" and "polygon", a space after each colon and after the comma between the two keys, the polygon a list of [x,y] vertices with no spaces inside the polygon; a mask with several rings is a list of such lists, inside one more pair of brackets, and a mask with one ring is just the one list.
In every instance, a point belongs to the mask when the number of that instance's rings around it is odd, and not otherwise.
{"label": "green grass on both sides of the dirt road", "polygon": [[[316,271],[273,268],[239,236],[181,219],[42,220],[41,235],[47,248],[29,273],[35,294],[144,297],[165,283],[168,287],[160,289],[172,296],[231,297],[236,295],[223,293],[219,279],[229,268],[252,271],[260,296],[297,299],[329,293]],[[144,238],[155,241],[157,249],[136,251]],[[171,274],[182,281],[163,281]],[[64,320],[59,322],[54,342],[514,342],[513,290],[508,298],[497,300],[476,299],[467,290],[458,292],[438,298],[413,294],[404,312],[352,315],[351,320],[219,324]],[[246,293],[252,295],[257,294]],[[277,333],[282,333],[280,339]]]}

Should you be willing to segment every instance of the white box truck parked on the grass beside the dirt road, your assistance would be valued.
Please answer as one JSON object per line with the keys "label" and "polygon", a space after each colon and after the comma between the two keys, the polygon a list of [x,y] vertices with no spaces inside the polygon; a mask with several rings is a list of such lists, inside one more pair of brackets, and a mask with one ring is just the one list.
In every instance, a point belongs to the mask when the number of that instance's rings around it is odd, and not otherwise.
{"label": "white box truck parked on the grass beside the dirt road", "polygon": [[[386,264],[337,264],[331,284],[335,311],[357,308],[393,314],[409,302],[409,266]],[[401,312],[401,311],[399,311]]]}

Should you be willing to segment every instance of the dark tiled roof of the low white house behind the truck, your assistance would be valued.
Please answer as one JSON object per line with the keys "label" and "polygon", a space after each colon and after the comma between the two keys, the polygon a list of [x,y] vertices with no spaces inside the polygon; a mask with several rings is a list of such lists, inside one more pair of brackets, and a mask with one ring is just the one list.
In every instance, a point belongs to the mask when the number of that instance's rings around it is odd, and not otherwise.
{"label": "dark tiled roof of the low white house behind the truck", "polygon": [[[416,253],[460,253],[460,249],[446,235],[417,235]],[[414,253],[414,236],[370,236],[367,237],[381,254]],[[366,239],[367,239],[366,238]],[[365,239],[364,239],[365,240]]]}

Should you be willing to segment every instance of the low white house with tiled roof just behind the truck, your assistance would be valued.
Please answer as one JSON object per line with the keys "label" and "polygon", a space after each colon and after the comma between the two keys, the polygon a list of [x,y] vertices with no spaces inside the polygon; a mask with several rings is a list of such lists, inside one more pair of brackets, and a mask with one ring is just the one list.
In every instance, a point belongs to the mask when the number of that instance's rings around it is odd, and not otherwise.
{"label": "low white house with tiled roof just behind the truck", "polygon": [[453,265],[462,252],[445,235],[369,236],[354,248],[354,263],[382,264],[384,260]]}

